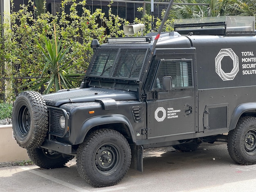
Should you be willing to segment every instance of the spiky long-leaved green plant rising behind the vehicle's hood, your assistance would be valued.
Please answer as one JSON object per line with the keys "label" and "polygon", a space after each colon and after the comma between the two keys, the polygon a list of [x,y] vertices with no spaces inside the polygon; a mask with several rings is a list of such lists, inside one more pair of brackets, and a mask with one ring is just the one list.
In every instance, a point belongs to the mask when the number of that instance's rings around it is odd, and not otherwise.
{"label": "spiky long-leaved green plant rising behind the vehicle's hood", "polygon": [[73,57],[76,52],[69,54],[70,59],[67,59],[67,53],[71,47],[69,46],[65,48],[61,41],[56,45],[54,39],[50,40],[45,37],[45,49],[39,42],[36,43],[42,51],[45,67],[43,68],[40,78],[33,80],[22,87],[33,84],[31,89],[38,90],[40,87],[47,85],[44,91],[45,94],[48,94],[53,90],[56,92],[62,88],[73,88],[73,83],[80,80],[83,76],[83,74],[67,74],[66,72],[81,63],[72,63],[74,62]]}

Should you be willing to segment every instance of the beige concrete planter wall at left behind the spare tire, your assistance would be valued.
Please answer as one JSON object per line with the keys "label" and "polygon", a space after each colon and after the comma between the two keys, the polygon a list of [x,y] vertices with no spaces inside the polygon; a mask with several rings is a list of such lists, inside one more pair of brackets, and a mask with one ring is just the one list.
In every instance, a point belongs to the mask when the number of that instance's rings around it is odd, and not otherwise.
{"label": "beige concrete planter wall at left behind the spare tire", "polygon": [[0,125],[0,162],[29,160],[27,150],[13,137],[12,125]]}

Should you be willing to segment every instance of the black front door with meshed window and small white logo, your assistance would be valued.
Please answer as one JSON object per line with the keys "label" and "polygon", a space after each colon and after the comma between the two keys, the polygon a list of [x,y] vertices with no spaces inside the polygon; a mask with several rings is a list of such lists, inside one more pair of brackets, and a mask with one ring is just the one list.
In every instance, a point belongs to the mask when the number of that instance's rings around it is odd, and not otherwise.
{"label": "black front door with meshed window and small white logo", "polygon": [[[192,58],[157,60],[157,73],[151,84],[155,98],[146,101],[148,138],[195,133]],[[164,76],[171,76],[171,91],[163,90]]]}

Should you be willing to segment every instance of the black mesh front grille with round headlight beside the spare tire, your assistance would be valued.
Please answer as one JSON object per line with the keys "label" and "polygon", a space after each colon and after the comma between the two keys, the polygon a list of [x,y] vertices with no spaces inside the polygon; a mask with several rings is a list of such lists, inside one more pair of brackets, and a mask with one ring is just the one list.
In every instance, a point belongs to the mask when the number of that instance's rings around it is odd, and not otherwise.
{"label": "black mesh front grille with round headlight beside the spare tire", "polygon": [[67,113],[64,110],[49,109],[49,133],[64,136],[67,130]]}

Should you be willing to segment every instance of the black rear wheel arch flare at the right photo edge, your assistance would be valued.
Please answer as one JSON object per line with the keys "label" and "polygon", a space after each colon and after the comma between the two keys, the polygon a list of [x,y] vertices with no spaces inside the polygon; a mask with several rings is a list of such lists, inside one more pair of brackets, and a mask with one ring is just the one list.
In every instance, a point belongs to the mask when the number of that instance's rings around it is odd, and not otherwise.
{"label": "black rear wheel arch flare at the right photo edge", "polygon": [[231,116],[229,131],[235,129],[239,118],[241,116],[245,116],[246,114],[250,114],[250,116],[256,116],[256,103],[243,103],[236,107]]}

